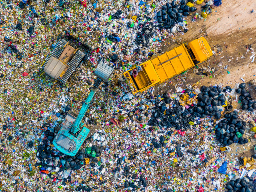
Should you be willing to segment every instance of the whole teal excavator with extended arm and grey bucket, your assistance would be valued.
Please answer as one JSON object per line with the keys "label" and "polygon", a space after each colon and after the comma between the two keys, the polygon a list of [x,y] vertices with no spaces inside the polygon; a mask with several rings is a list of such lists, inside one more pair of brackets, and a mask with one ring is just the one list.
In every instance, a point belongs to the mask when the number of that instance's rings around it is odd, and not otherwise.
{"label": "whole teal excavator with extended arm and grey bucket", "polygon": [[100,83],[102,81],[107,82],[113,71],[114,68],[108,66],[102,61],[99,62],[96,70],[94,71],[94,75],[97,77],[97,79],[89,96],[83,103],[79,114],[77,115],[72,111],[68,112],[61,124],[58,134],[53,140],[54,146],[60,152],[69,156],[75,156],[82,146],[84,140],[90,132],[90,130],[84,126],[84,123],[82,123],[82,119],[84,118],[84,115],[88,110],[94,94],[97,88],[100,86]]}

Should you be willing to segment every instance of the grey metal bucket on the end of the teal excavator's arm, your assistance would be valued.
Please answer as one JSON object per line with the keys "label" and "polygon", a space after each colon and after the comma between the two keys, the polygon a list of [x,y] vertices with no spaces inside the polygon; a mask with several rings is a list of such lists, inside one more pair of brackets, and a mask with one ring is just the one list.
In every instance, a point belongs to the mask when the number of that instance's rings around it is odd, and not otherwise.
{"label": "grey metal bucket on the end of the teal excavator's arm", "polygon": [[94,75],[99,79],[101,79],[102,81],[107,82],[113,71],[114,71],[114,68],[100,61],[96,70],[94,71]]}

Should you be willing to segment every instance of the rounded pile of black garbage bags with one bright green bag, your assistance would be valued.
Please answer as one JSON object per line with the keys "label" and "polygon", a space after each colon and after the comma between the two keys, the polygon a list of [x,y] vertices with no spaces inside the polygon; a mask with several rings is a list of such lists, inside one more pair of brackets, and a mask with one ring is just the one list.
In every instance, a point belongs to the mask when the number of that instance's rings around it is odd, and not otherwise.
{"label": "rounded pile of black garbage bags with one bright green bag", "polygon": [[243,138],[246,122],[238,119],[238,112],[230,112],[224,115],[215,127],[216,139],[225,146],[234,142],[239,144],[248,143],[248,139]]}

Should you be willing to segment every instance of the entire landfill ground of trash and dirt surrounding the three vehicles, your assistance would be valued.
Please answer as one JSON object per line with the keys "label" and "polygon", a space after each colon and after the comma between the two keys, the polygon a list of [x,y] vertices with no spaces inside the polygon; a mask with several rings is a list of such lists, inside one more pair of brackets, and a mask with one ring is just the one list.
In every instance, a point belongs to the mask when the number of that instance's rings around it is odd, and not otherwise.
{"label": "entire landfill ground of trash and dirt surrounding the three vehicles", "polygon": [[[0,191],[256,191],[256,2],[190,2],[0,0]],[[182,22],[161,24],[166,3]],[[132,95],[126,70],[201,36],[212,57]],[[61,38],[86,53],[65,84],[43,66]],[[67,156],[52,141],[102,59],[115,70]]]}

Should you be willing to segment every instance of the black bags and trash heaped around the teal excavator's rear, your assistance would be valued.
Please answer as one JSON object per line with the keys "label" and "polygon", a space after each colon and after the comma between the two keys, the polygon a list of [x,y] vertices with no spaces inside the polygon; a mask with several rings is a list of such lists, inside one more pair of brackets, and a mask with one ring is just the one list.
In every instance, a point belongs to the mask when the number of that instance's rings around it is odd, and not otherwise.
{"label": "black bags and trash heaped around the teal excavator's rear", "polygon": [[[42,144],[37,146],[38,161],[35,166],[40,166],[42,173],[51,173],[51,176],[67,178],[71,170],[79,170],[85,164],[90,164],[91,167],[95,168],[93,162],[98,163],[96,157],[99,157],[104,151],[104,146],[98,147],[96,144],[90,144],[86,150],[80,149],[76,156],[67,156],[54,149],[52,145],[53,132],[46,130],[44,134],[47,139],[42,140]],[[98,168],[102,170],[100,166]]]}

